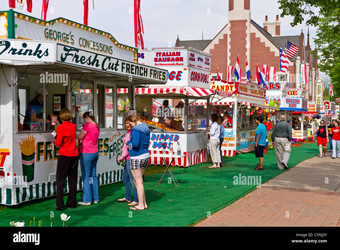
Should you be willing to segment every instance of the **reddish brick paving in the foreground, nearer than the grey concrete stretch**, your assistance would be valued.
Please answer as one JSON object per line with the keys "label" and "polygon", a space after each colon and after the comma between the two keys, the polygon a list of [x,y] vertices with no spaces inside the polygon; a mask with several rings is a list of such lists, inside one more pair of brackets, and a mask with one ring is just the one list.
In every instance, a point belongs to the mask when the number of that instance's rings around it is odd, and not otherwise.
{"label": "reddish brick paving in the foreground, nearer than the grey concrete stretch", "polygon": [[340,193],[262,186],[195,227],[335,227],[339,217]]}

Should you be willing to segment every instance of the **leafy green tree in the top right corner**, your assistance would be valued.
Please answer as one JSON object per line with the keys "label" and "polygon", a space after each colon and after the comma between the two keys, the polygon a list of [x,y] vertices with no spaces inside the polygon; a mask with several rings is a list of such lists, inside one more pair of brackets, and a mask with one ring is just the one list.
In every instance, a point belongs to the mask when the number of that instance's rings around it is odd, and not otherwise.
{"label": "leafy green tree in the top right corner", "polygon": [[[340,0],[278,0],[281,17],[292,16],[292,27],[302,23],[317,26],[314,43],[318,48],[318,68],[333,84],[334,96],[340,93]],[[319,13],[314,11],[320,9]],[[315,54],[314,54],[315,55]]]}

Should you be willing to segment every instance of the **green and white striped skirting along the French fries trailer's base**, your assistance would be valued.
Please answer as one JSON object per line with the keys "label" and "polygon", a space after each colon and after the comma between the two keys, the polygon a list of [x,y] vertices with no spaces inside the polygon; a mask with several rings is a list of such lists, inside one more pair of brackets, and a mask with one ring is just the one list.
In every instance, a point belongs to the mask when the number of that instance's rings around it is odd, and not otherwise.
{"label": "green and white striped skirting along the French fries trailer's base", "polygon": [[[110,184],[122,181],[123,169],[112,170],[104,173],[98,173],[98,185]],[[77,190],[83,189],[82,178],[78,177]],[[64,193],[68,193],[68,183],[65,182]],[[16,188],[0,187],[0,204],[15,205],[24,201],[39,199],[56,195],[56,182],[43,182]]]}

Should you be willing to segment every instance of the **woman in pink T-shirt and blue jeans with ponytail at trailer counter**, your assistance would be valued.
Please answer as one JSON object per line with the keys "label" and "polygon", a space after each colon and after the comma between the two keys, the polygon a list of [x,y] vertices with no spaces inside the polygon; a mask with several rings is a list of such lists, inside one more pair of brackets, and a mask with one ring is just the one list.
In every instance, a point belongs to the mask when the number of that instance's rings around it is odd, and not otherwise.
{"label": "woman in pink T-shirt and blue jeans with ponytail at trailer counter", "polygon": [[[93,111],[91,111],[91,114]],[[83,114],[85,125],[75,137],[82,140],[80,146],[80,168],[83,180],[83,198],[78,202],[79,205],[91,205],[91,202],[99,202],[98,180],[97,180],[97,161],[99,158],[98,138],[99,125],[90,112]]]}

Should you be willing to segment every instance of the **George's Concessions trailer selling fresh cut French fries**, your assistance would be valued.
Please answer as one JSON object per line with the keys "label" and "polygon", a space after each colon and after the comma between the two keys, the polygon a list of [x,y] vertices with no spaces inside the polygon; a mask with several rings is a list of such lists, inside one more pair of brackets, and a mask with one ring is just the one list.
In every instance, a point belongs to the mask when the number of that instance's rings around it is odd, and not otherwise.
{"label": "George's Concessions trailer selling fresh cut French fries", "polygon": [[[117,159],[124,117],[135,107],[135,85],[164,84],[168,77],[167,70],[138,64],[137,49],[109,33],[13,10],[0,12],[0,66],[0,203],[6,205],[56,194],[59,148],[51,134],[55,126],[47,120],[65,107],[78,133],[83,113],[94,111],[99,185],[122,180]],[[29,119],[33,109],[38,121]]]}

